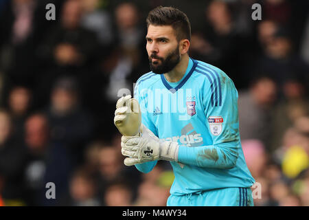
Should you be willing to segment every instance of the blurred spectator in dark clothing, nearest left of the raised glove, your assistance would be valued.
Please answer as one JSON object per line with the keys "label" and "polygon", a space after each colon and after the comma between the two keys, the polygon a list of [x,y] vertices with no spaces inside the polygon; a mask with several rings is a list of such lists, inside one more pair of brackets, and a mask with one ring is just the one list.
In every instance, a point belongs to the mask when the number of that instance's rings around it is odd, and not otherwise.
{"label": "blurred spectator in dark clothing, nearest left of the raised glove", "polygon": [[52,90],[47,110],[51,141],[67,147],[74,164],[81,162],[84,144],[91,138],[93,123],[90,115],[79,106],[78,85],[72,78],[60,78]]}

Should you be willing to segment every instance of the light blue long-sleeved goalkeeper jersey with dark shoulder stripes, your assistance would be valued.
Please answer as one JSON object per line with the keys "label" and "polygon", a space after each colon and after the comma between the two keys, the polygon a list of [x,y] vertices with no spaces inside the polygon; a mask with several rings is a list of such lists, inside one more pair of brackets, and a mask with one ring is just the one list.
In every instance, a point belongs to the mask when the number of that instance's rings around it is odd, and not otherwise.
{"label": "light blue long-sleeved goalkeeper jersey with dark shoulder stripes", "polygon": [[[142,123],[160,139],[179,143],[172,195],[253,185],[240,144],[238,91],[222,70],[190,58],[179,82],[149,72],[137,80],[134,96]],[[148,173],[156,164],[135,166]]]}

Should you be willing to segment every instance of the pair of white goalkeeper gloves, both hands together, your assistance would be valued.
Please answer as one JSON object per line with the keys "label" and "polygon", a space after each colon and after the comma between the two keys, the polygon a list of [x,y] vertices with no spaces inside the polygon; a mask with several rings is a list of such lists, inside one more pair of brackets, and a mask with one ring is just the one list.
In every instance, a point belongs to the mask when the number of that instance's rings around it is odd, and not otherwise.
{"label": "pair of white goalkeeper gloves, both hands together", "polygon": [[119,98],[114,124],[122,133],[122,155],[126,166],[164,159],[177,161],[178,143],[159,140],[152,131],[141,124],[139,102],[130,95]]}

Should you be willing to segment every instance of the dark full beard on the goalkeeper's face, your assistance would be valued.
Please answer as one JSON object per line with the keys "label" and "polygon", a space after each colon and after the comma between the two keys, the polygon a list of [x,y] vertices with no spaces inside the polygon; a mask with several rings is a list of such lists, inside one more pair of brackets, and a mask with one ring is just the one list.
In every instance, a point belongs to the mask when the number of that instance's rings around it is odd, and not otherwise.
{"label": "dark full beard on the goalkeeper's face", "polygon": [[[168,54],[168,56],[164,59],[157,54],[151,54],[149,58],[149,65],[150,65],[150,70],[154,72],[155,74],[165,74],[167,72],[170,72],[176,65],[180,62],[181,56],[179,53],[179,47],[176,47],[176,49]],[[151,61],[151,58],[157,58],[161,61],[161,65],[157,64],[154,65]],[[158,63],[158,61],[155,61]]]}

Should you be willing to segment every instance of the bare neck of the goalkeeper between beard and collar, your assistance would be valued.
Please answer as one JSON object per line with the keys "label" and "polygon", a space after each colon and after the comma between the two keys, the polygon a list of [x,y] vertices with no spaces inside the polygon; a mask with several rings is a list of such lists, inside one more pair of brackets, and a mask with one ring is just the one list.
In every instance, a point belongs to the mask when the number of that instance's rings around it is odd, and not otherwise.
{"label": "bare neck of the goalkeeper between beard and collar", "polygon": [[170,72],[164,74],[166,80],[170,83],[177,83],[185,75],[187,66],[189,65],[189,56],[184,54],[181,56],[181,61]]}

